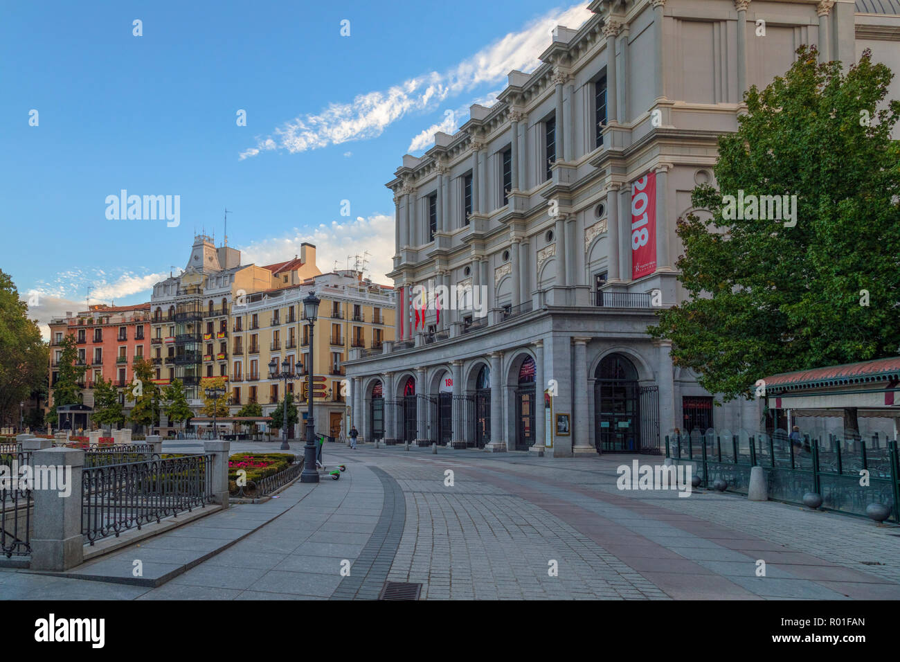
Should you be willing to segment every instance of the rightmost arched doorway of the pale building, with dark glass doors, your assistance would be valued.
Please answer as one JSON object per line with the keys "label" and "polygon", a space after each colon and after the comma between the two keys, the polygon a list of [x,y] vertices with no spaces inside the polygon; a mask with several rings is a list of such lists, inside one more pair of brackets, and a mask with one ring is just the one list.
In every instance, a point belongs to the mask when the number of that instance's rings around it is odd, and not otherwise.
{"label": "rightmost arched doorway of the pale building, with dark glass doors", "polygon": [[637,370],[622,354],[610,354],[594,373],[594,445],[598,450],[640,450],[640,388]]}

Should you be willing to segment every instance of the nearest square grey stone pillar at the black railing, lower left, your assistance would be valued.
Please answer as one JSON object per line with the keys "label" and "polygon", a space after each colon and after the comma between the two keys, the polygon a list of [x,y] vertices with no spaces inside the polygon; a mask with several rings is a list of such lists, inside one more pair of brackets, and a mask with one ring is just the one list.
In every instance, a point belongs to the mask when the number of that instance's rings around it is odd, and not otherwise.
{"label": "nearest square grey stone pillar at the black railing, lower left", "polygon": [[[32,570],[67,570],[80,565],[85,558],[85,539],[81,533],[84,465],[85,451],[80,449],[41,449],[31,453],[32,467],[63,467],[69,474],[65,495],[60,495],[56,489],[31,491],[34,503]],[[43,476],[51,473],[42,472]],[[56,473],[58,476],[59,472]]]}

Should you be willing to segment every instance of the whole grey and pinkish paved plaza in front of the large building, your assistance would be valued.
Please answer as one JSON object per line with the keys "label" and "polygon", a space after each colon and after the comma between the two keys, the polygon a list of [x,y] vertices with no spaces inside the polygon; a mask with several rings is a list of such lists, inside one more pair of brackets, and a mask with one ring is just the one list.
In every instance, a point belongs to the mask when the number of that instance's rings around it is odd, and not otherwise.
{"label": "whole grey and pinkish paved plaza in front of the large building", "polygon": [[632,456],[328,444],[325,459],[347,465],[340,480],[295,483],[66,576],[0,569],[0,598],[376,599],[386,581],[430,600],[900,598],[900,528],[734,494],[620,491]]}

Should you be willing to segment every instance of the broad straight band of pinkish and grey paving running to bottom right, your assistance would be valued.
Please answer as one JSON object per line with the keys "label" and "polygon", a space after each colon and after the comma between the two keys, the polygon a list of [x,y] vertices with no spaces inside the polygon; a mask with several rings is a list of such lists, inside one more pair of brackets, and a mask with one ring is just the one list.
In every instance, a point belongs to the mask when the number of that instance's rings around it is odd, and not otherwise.
{"label": "broad straight band of pinkish and grey paving running to bottom right", "polygon": [[[658,499],[647,503],[641,498],[646,492],[610,493],[572,484],[563,488],[520,465],[510,463],[505,468],[506,474],[500,475],[470,464],[464,474],[472,472],[494,485],[505,485],[569,522],[675,598],[900,598],[900,585],[880,576],[669,510],[666,506],[677,507],[677,502],[687,501],[674,494],[665,505]],[[716,496],[747,505],[740,497]],[[696,508],[700,497],[693,498]],[[712,501],[707,506],[716,507]],[[766,562],[764,577],[755,574],[757,559]]]}

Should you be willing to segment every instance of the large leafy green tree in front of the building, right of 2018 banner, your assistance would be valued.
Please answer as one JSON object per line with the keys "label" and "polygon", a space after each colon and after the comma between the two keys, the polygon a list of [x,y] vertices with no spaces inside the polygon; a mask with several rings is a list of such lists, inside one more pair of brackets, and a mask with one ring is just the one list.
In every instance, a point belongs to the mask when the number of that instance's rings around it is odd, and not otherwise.
{"label": "large leafy green tree in front of the building, right of 2018 banner", "polygon": [[[801,47],[785,77],[744,99],[719,139],[716,183],[680,220],[689,293],[649,331],[711,393],[752,396],[762,377],[896,355],[900,346],[900,102],[865,51],[843,73]],[[734,218],[725,196],[797,195],[790,221]],[[746,212],[751,210],[745,210]],[[786,225],[787,223],[787,225]]]}

